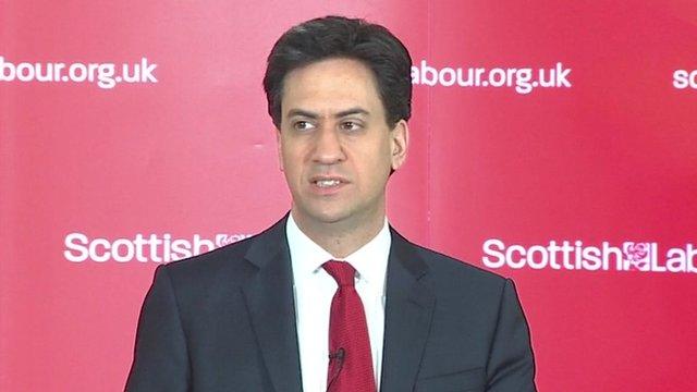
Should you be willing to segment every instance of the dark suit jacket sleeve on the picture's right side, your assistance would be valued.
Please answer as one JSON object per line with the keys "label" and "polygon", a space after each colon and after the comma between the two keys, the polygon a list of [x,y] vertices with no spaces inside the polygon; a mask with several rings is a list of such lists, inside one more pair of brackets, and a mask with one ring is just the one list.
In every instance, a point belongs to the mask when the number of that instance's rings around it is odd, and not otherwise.
{"label": "dark suit jacket sleeve on the picture's right side", "polygon": [[487,391],[536,391],[530,332],[513,281],[509,279],[503,285],[499,319],[489,352]]}

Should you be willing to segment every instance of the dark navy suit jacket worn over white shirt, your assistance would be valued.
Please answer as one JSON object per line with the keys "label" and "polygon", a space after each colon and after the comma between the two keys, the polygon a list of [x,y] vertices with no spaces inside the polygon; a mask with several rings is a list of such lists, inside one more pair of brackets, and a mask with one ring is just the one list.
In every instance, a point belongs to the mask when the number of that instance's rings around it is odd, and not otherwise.
{"label": "dark navy suit jacket worn over white shirt", "polygon": [[[513,282],[391,235],[380,391],[535,391]],[[126,390],[299,392],[293,298],[285,218],[158,267]]]}

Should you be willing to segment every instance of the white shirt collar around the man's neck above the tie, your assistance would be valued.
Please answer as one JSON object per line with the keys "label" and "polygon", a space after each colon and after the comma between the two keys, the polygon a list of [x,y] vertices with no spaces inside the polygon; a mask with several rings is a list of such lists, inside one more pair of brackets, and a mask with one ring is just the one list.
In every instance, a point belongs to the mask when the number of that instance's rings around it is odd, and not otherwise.
{"label": "white shirt collar around the man's neck above the tie", "polygon": [[372,240],[343,259],[333,257],[305,235],[293,220],[292,213],[289,215],[285,224],[285,234],[291,250],[294,275],[316,273],[321,269],[322,264],[329,260],[347,261],[356,269],[359,279],[382,291],[392,244],[387,218],[382,229]]}

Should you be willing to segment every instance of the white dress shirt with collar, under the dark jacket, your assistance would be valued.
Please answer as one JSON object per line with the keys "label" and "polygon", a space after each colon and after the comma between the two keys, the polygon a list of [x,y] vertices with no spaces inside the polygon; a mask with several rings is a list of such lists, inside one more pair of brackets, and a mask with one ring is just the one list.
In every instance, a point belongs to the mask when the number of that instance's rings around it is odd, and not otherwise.
{"label": "white dress shirt with collar, under the dark jacket", "polygon": [[303,233],[293,216],[285,225],[293,268],[295,322],[299,348],[303,391],[325,392],[329,366],[329,316],[337,282],[322,264],[340,260],[356,270],[356,291],[363,302],[370,335],[372,370],[380,389],[382,336],[384,331],[384,282],[392,238],[387,219],[380,232],[358,250],[340,259]]}

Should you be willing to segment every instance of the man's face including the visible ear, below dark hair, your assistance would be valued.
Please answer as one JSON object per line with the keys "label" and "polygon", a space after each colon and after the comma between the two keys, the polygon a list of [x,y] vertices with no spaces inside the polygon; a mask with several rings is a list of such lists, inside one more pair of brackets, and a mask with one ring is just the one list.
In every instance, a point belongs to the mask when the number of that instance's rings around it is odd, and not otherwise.
{"label": "man's face including the visible ear, below dark hair", "polygon": [[388,126],[372,72],[347,59],[294,70],[281,109],[279,155],[298,224],[352,230],[382,219],[387,181],[404,162],[408,130],[405,121]]}

